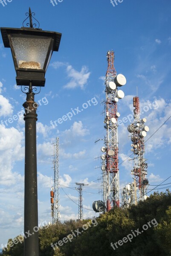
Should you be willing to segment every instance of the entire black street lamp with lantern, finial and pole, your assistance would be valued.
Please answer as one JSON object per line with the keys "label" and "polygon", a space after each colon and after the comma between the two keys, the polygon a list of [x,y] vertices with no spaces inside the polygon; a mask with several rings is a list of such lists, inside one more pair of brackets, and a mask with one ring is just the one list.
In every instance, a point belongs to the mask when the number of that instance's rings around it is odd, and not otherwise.
{"label": "entire black street lamp with lantern, finial and pole", "polygon": [[[36,87],[45,85],[45,73],[53,51],[58,51],[61,33],[37,29],[32,23],[35,13],[26,13],[28,27],[1,28],[4,47],[11,48],[17,85],[28,86],[25,108],[25,188],[24,188],[24,256],[38,256],[38,193],[36,121],[38,104],[34,100]],[[35,19],[35,18],[34,18]],[[24,22],[26,21],[24,20]],[[37,21],[37,20],[36,20]],[[24,23],[23,22],[23,23]],[[39,24],[39,23],[38,23]],[[34,87],[33,87],[34,86]],[[27,90],[27,91],[26,91]]]}

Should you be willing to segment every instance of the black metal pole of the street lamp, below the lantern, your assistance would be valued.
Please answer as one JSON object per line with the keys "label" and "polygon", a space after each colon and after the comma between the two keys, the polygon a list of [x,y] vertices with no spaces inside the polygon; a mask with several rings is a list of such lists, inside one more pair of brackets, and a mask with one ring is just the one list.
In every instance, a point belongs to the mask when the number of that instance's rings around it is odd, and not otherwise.
{"label": "black metal pole of the street lamp, below the lantern", "polygon": [[24,191],[24,256],[38,256],[38,189],[37,189],[37,154],[36,121],[37,103],[34,101],[30,83],[26,93],[25,108],[25,191]]}

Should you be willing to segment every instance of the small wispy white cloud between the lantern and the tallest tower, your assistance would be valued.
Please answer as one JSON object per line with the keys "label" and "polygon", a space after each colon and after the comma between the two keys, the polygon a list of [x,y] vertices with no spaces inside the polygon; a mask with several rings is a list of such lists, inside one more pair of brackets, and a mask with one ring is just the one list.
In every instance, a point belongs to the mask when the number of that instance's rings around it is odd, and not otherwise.
{"label": "small wispy white cloud between the lantern and the tallest tower", "polygon": [[67,67],[67,75],[71,78],[71,81],[64,85],[64,88],[74,89],[76,87],[80,87],[81,89],[84,89],[84,86],[87,84],[87,80],[89,79],[90,72],[88,72],[88,68],[86,66],[83,66],[79,72],[69,65]]}

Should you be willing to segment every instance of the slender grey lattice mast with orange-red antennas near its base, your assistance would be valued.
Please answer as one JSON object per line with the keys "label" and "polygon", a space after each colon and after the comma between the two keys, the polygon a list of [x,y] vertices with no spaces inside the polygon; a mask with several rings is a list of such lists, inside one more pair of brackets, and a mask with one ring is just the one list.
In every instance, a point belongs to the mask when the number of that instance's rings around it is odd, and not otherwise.
{"label": "slender grey lattice mast with orange-red antennas near its base", "polygon": [[54,145],[54,160],[53,160],[53,169],[54,169],[54,187],[51,191],[51,216],[52,224],[60,218],[59,212],[59,138],[56,138],[56,144]]}

